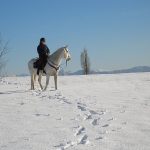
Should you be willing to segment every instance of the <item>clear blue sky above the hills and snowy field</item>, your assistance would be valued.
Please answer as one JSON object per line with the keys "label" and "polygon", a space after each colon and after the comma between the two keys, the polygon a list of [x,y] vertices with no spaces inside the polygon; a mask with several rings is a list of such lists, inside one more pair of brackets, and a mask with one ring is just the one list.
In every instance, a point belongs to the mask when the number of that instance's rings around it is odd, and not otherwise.
{"label": "clear blue sky above the hills and snowy field", "polygon": [[28,72],[40,37],[51,52],[69,45],[65,70],[80,69],[84,47],[93,69],[150,66],[149,0],[0,0],[0,32],[9,40],[10,74]]}

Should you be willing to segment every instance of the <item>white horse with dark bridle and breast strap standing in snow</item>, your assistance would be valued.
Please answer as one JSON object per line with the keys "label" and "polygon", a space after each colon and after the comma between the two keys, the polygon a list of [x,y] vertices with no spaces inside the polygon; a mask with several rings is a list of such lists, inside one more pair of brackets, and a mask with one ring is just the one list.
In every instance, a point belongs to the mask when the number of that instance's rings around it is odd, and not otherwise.
{"label": "white horse with dark bridle and breast strap standing in snow", "polygon": [[[57,90],[57,76],[59,72],[60,63],[63,58],[66,60],[66,62],[71,59],[67,46],[59,48],[52,55],[48,56],[47,64],[44,68],[46,72],[46,86],[44,90],[47,89],[50,76],[54,76],[55,89]],[[37,59],[33,58],[28,62],[28,68],[31,74],[31,90],[34,90],[34,83],[37,75],[37,68],[34,68],[34,62],[36,62],[36,60]],[[38,82],[40,84],[41,89],[43,90],[43,86],[41,84],[42,75],[43,71],[40,71],[38,75]]]}

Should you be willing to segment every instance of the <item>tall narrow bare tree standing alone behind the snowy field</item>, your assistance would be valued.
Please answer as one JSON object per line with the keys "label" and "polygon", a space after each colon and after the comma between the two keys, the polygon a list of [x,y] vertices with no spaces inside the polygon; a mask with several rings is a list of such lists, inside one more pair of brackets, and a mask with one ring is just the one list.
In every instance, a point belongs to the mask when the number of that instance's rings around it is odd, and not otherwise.
{"label": "tall narrow bare tree standing alone behind the snowy field", "polygon": [[83,74],[87,75],[90,73],[90,59],[86,49],[81,53],[81,67],[83,69]]}

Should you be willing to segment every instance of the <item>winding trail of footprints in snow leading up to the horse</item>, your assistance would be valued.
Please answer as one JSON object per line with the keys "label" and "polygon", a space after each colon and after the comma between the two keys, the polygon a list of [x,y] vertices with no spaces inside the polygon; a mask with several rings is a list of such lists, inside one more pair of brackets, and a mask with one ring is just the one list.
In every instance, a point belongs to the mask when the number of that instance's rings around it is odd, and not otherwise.
{"label": "winding trail of footprints in snow leading up to the horse", "polygon": [[[66,97],[63,97],[62,94],[60,92],[55,93],[55,95],[52,96],[48,96],[44,93],[42,93],[41,91],[36,91],[32,93],[35,96],[39,96],[40,98],[49,98],[49,99],[57,99],[58,102],[63,102],[63,104],[66,105],[76,105],[76,111],[77,111],[77,116],[75,117],[76,120],[79,119],[80,117],[80,121],[79,121],[79,126],[77,126],[75,128],[75,130],[73,131],[73,136],[75,137],[75,141],[67,141],[65,144],[64,143],[60,143],[56,146],[54,146],[54,148],[56,148],[57,150],[65,150],[68,149],[72,146],[77,146],[79,144],[89,144],[90,142],[92,142],[93,140],[98,141],[98,140],[102,140],[104,138],[104,135],[107,133],[107,128],[110,126],[110,122],[113,120],[113,118],[111,117],[111,115],[106,112],[105,110],[101,110],[101,111],[95,111],[92,110],[90,108],[88,108],[86,106],[86,104],[77,102],[77,103],[71,103],[69,102],[69,100]],[[37,115],[37,114],[36,114]],[[41,115],[41,114],[40,114]],[[39,116],[39,114],[37,115]],[[80,123],[82,122],[82,125],[80,125]],[[96,137],[95,139],[93,139],[92,141],[89,140],[88,136],[88,130],[89,128],[86,127],[85,124],[89,124],[92,127],[92,131],[96,133]],[[99,130],[99,131],[97,131]]]}

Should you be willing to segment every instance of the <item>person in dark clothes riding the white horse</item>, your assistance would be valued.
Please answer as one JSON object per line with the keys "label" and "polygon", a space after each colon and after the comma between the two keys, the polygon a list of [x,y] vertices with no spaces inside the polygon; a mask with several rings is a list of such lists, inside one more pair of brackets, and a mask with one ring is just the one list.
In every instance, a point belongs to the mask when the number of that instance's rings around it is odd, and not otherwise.
{"label": "person in dark clothes riding the white horse", "polygon": [[[50,50],[46,45],[45,38],[40,39],[40,43],[37,47],[37,52],[39,54],[39,63],[38,63],[38,71],[37,74],[39,74],[40,70],[44,71],[44,67],[47,63],[48,55],[50,54]],[[45,72],[45,71],[44,71]]]}

